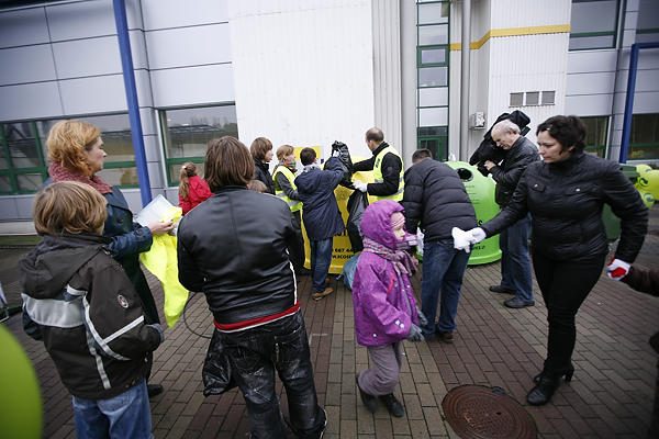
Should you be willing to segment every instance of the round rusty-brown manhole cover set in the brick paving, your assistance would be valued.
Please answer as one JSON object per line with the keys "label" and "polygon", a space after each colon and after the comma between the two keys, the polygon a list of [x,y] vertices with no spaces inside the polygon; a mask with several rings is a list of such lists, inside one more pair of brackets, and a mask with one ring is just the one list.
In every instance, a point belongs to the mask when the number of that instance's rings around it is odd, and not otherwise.
{"label": "round rusty-brown manhole cover set in the brick paving", "polygon": [[446,394],[442,408],[462,439],[537,437],[530,415],[501,387],[461,385]]}

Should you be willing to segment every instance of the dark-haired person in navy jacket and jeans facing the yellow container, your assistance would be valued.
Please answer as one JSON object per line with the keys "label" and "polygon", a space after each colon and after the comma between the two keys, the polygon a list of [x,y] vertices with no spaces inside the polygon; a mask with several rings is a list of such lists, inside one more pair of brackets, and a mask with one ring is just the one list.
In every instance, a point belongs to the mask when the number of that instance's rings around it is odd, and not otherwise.
{"label": "dark-haired person in navy jacket and jeans facing the yellow container", "polygon": [[334,196],[334,190],[344,173],[337,157],[327,160],[325,170],[321,170],[313,148],[302,149],[300,161],[304,169],[295,178],[295,185],[302,201],[302,221],[311,246],[312,297],[319,301],[334,291],[325,286],[325,282],[332,263],[334,235],[339,235],[345,228]]}

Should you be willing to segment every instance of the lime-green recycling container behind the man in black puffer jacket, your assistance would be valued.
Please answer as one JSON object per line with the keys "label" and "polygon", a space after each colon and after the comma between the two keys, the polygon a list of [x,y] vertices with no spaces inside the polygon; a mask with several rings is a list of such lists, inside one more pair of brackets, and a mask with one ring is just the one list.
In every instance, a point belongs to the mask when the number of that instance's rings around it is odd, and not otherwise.
{"label": "lime-green recycling container behind the man in black puffer jacket", "polygon": [[[466,161],[447,161],[446,165],[458,171],[471,204],[473,204],[478,225],[480,226],[492,219],[499,213],[499,205],[494,201],[494,187],[496,184],[494,180],[483,177],[476,166],[471,166]],[[501,259],[501,249],[499,248],[499,235],[496,235],[473,246],[469,264],[479,266],[499,259]]]}

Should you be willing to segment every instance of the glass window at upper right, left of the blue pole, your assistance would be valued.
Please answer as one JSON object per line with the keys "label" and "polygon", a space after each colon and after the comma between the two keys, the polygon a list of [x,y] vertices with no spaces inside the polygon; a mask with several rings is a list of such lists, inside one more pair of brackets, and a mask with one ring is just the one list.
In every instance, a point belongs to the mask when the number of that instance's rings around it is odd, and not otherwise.
{"label": "glass window at upper right, left of the blue pole", "polygon": [[572,0],[570,50],[615,47],[618,0]]}

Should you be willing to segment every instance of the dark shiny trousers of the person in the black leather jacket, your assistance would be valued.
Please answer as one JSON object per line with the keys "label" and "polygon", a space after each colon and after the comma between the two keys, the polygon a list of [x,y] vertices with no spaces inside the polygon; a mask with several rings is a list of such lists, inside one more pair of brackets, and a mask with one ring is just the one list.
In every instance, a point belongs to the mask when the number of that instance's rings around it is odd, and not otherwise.
{"label": "dark shiny trousers of the person in the black leather jacket", "polygon": [[300,312],[237,333],[220,333],[249,415],[252,438],[286,438],[275,372],[288,398],[293,432],[299,438],[319,438],[325,428],[325,412],[319,406],[309,339]]}

